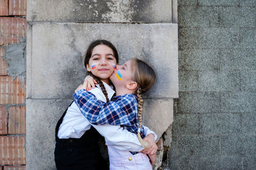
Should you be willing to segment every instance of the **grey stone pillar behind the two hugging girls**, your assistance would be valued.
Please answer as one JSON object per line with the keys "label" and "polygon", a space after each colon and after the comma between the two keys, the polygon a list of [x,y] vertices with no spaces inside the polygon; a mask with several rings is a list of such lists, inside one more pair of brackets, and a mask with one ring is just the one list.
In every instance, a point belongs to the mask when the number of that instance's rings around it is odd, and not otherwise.
{"label": "grey stone pillar behind the two hugging girls", "polygon": [[54,128],[83,83],[83,55],[95,39],[111,41],[120,63],[138,57],[155,67],[143,121],[158,139],[170,137],[179,90],[177,1],[30,0],[27,19],[27,169],[55,169]]}

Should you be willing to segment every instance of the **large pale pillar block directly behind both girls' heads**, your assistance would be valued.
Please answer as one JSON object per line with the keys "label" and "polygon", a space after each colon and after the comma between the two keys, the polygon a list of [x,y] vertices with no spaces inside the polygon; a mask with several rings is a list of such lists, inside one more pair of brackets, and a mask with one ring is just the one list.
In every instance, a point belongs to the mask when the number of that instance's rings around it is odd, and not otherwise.
{"label": "large pale pillar block directly behind both girls' heads", "polygon": [[83,55],[94,39],[113,42],[120,63],[138,57],[155,67],[158,81],[147,97],[178,97],[177,24],[44,23],[32,30],[32,98],[72,97],[83,83]]}

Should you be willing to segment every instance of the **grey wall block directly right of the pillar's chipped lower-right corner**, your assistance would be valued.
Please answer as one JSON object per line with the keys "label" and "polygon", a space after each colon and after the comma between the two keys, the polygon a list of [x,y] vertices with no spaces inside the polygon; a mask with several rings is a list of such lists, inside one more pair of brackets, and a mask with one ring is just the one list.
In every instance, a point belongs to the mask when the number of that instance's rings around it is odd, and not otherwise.
{"label": "grey wall block directly right of the pillar's chipped lower-right corner", "polygon": [[198,114],[177,114],[173,118],[172,131],[175,135],[199,134]]}

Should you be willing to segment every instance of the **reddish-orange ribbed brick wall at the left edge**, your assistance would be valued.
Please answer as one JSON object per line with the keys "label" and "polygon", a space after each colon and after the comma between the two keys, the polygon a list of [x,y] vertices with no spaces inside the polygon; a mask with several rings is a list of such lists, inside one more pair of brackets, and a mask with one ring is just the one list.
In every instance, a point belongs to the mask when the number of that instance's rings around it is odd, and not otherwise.
{"label": "reddish-orange ribbed brick wall at the left edge", "polygon": [[26,169],[26,78],[9,73],[8,67],[17,64],[12,63],[12,56],[8,61],[4,59],[8,46],[26,38],[26,28],[26,0],[0,0],[1,170]]}

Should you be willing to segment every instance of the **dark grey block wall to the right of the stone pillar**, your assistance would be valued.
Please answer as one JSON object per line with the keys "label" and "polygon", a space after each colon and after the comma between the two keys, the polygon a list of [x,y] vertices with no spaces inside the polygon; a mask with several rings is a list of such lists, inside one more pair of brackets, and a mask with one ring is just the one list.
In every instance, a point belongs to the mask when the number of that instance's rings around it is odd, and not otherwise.
{"label": "dark grey block wall to the right of the stone pillar", "polygon": [[256,169],[256,1],[179,1],[170,169]]}

